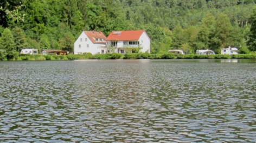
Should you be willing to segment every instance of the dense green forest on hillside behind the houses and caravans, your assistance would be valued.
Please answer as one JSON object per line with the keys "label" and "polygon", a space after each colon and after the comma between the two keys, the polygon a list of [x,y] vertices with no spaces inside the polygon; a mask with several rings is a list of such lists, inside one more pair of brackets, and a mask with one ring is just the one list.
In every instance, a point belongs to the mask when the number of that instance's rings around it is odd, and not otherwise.
{"label": "dense green forest on hillside behind the houses and caravans", "polygon": [[145,30],[151,53],[256,51],[256,0],[1,0],[0,49],[73,51],[82,31]]}

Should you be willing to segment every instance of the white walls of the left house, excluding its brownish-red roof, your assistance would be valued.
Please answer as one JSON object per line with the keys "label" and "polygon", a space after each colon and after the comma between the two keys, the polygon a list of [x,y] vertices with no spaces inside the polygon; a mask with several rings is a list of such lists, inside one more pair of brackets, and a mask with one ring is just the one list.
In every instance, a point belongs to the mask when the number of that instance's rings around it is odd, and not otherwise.
{"label": "white walls of the left house, excluding its brownish-red roof", "polygon": [[[87,39],[87,40],[86,40]],[[80,45],[80,47],[79,47]],[[93,55],[97,53],[101,53],[101,50],[104,50],[106,53],[106,44],[94,44],[92,41],[87,37],[85,32],[82,32],[81,35],[76,39],[74,43],[74,54],[82,54],[85,52],[92,53]]]}

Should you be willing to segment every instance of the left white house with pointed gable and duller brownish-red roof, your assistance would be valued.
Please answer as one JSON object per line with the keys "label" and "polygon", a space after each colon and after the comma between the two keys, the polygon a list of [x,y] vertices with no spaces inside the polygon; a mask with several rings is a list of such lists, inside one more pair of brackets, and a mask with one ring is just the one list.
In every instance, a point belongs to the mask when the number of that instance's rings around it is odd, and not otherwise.
{"label": "left white house with pointed gable and duller brownish-red roof", "polygon": [[92,53],[106,53],[106,36],[101,32],[83,31],[74,43],[74,54],[82,54],[85,52]]}

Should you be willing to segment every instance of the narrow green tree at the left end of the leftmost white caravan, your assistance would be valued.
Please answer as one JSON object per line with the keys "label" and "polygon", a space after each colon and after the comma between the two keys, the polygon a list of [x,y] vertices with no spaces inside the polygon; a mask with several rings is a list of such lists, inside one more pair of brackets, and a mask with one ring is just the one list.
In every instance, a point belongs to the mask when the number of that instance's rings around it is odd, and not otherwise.
{"label": "narrow green tree at the left end of the leftmost white caravan", "polygon": [[21,28],[12,29],[14,41],[15,41],[15,50],[20,52],[22,49],[28,47],[26,36]]}

